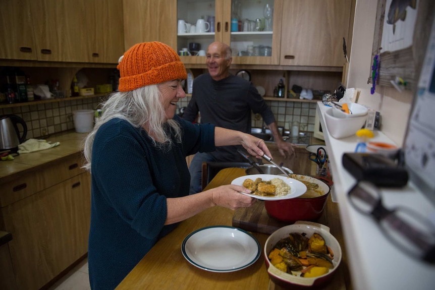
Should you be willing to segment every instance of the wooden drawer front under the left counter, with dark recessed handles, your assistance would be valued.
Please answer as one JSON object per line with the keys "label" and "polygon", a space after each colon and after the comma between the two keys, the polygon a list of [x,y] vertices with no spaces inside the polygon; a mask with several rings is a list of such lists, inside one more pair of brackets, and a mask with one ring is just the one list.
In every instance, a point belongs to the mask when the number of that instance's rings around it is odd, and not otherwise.
{"label": "wooden drawer front under the left counter, with dark recessed handles", "polygon": [[45,166],[41,165],[39,166],[40,169],[37,167],[31,173],[17,173],[14,181],[1,186],[0,207],[5,207],[79,175],[85,171],[85,169],[81,168],[82,165],[83,156],[81,153],[77,153],[62,158],[59,162],[50,163]]}

